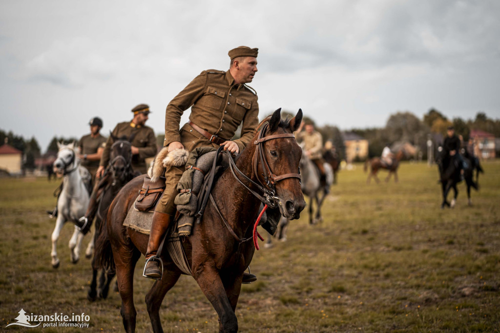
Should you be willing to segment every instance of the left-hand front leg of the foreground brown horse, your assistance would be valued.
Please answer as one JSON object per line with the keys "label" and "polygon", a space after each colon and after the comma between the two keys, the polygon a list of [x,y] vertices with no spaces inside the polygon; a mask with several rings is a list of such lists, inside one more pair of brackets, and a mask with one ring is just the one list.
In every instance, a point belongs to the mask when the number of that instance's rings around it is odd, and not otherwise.
{"label": "left-hand front leg of the foreground brown horse", "polygon": [[237,332],[238,319],[213,263],[205,261],[194,267],[192,276],[219,316],[219,333]]}

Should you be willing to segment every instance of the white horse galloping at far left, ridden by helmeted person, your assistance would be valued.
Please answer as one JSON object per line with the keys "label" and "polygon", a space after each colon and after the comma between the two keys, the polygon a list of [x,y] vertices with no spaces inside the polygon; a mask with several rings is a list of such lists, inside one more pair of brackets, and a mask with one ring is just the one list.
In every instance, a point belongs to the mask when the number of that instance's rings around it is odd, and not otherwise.
{"label": "white horse galloping at far left, ridden by helmeted person", "polygon": [[[87,209],[89,201],[89,186],[91,183],[90,172],[80,165],[78,154],[74,147],[74,142],[64,145],[57,142],[59,151],[57,158],[52,164],[54,172],[58,176],[63,176],[63,186],[57,199],[57,219],[55,221],[54,231],[52,232],[52,267],[59,267],[59,258],[57,257],[56,242],[59,238],[62,225],[66,221],[73,223],[83,216]],[[76,227],[73,235],[69,239],[69,249],[71,250],[71,262],[76,263],[80,255],[81,240],[83,233]],[[93,239],[93,238],[92,238]],[[90,256],[93,249],[93,240],[88,243],[86,255]]]}

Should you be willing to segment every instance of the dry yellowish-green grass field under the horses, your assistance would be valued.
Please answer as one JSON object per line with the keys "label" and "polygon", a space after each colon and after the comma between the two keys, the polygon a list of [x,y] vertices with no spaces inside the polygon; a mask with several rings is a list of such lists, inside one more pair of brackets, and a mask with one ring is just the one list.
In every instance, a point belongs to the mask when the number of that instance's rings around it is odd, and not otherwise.
{"label": "dry yellowish-green grass field under the horses", "polygon": [[[320,224],[308,225],[302,213],[288,241],[256,251],[251,269],[258,280],[243,285],[236,310],[240,331],[500,331],[500,161],[484,163],[472,206],[460,184],[457,206],[444,210],[435,166],[404,163],[399,183],[370,185],[356,166],[339,172]],[[28,331],[5,328],[23,308],[84,312],[87,331],[122,331],[116,292],[86,300],[90,263],[83,253],[69,262],[69,224],[57,246],[60,267],[50,265],[54,220],[44,210],[54,205],[56,183],[0,179],[0,187],[0,330]],[[138,332],[151,330],[143,299],[152,281],[140,277],[142,262],[134,289]],[[167,294],[160,314],[166,332],[217,331],[215,311],[188,276]]]}

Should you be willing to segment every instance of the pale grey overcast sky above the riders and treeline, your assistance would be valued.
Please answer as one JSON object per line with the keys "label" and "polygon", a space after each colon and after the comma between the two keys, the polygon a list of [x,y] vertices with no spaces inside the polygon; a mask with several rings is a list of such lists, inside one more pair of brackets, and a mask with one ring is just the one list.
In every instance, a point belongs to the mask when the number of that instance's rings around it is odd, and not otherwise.
{"label": "pale grey overcast sky above the riders and treeline", "polygon": [[499,18],[497,0],[2,0],[0,128],[44,151],[147,103],[161,134],[170,99],[239,45],[259,48],[261,116],[300,107],[341,129],[431,107],[498,118]]}

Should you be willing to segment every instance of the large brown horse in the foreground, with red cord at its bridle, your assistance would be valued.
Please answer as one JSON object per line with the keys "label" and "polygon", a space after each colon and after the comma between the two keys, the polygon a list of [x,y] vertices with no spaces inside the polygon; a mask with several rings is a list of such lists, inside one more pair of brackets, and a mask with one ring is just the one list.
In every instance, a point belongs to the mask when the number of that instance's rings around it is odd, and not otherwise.
{"label": "large brown horse in the foreground, with red cord at its bridle", "polygon": [[[301,119],[299,110],[295,117],[283,121],[277,109],[260,123],[260,130],[255,131],[235,161],[241,173],[227,169],[221,174],[211,192],[214,203],[208,203],[201,223],[194,223],[192,234],[182,241],[192,276],[218,314],[220,332],[238,329],[234,310],[243,272],[254,252],[252,226],[261,201],[278,206],[281,214],[290,219],[298,218],[304,208],[298,174],[301,149],[292,134]],[[123,226],[123,221],[143,177],[132,179],[118,192],[107,214],[108,243],[102,243],[106,237],[101,234],[96,245],[96,252],[104,255],[104,260],[107,257],[108,262],[112,262],[112,252],[121,296],[120,313],[127,332],[135,330],[133,272],[141,253],[146,251],[148,235]],[[159,307],[181,274],[168,253],[158,254],[164,263],[162,278],[154,282],[145,297],[154,332],[163,331]]]}

